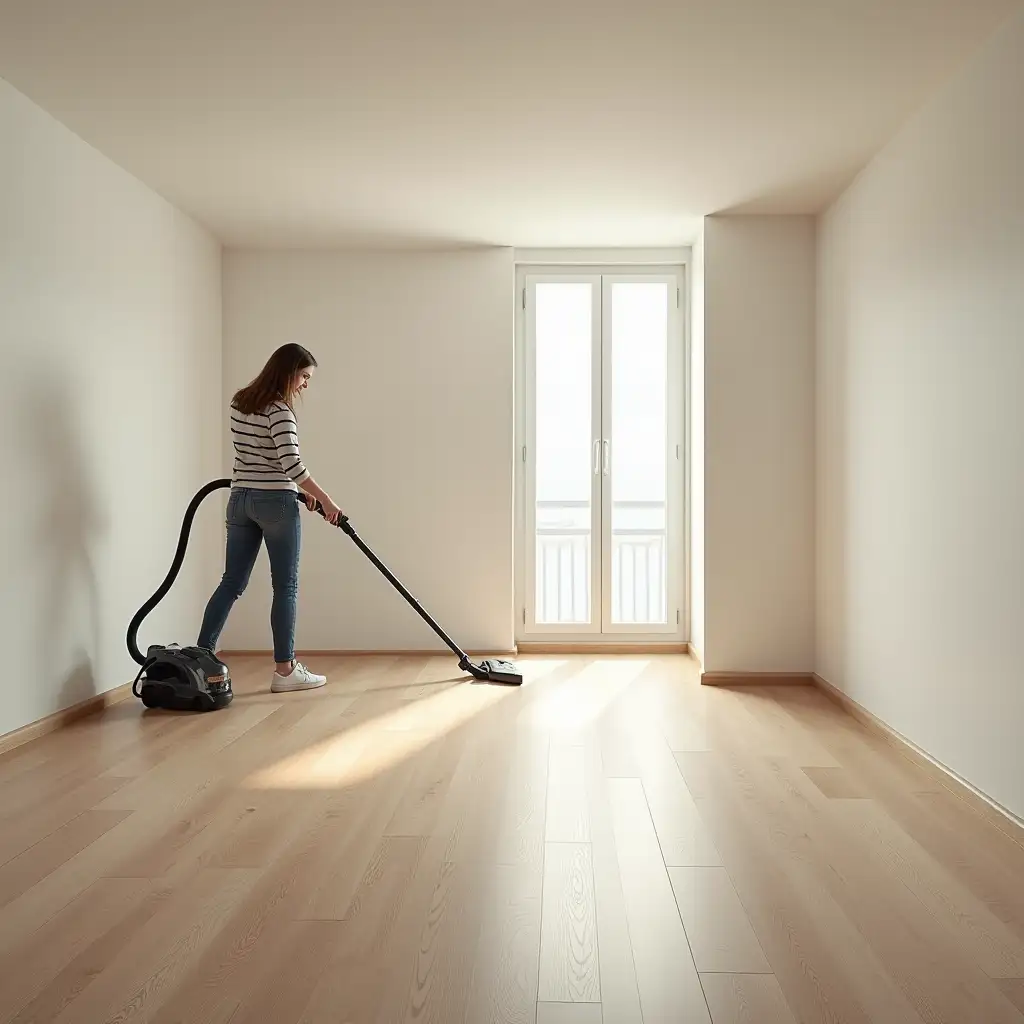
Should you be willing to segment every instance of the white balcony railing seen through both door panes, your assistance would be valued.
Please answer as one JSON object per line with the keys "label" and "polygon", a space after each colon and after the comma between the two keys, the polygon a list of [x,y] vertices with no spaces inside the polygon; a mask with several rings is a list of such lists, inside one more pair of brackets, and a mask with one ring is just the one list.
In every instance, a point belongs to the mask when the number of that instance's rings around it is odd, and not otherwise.
{"label": "white balcony railing seen through both door panes", "polygon": [[[537,503],[538,623],[593,621],[589,508],[587,502]],[[668,622],[667,543],[664,502],[613,503],[611,621],[616,625]]]}

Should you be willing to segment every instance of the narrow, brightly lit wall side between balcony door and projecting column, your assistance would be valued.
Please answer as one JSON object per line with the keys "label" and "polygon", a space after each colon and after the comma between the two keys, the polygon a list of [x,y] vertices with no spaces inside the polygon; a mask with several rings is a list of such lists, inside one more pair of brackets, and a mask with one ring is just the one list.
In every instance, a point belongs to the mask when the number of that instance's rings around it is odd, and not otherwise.
{"label": "narrow, brightly lit wall side between balcony door and projecting column", "polygon": [[690,282],[690,650],[705,656],[705,269],[703,231],[693,244]]}

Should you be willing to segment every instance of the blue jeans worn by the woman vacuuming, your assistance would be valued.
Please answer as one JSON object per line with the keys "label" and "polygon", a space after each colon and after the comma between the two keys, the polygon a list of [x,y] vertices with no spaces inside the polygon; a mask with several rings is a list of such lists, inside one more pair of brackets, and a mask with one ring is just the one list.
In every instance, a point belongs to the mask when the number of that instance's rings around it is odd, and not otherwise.
{"label": "blue jeans worn by the woman vacuuming", "polygon": [[295,657],[295,612],[299,593],[299,497],[294,490],[233,487],[227,499],[227,548],[224,574],[206,606],[198,644],[215,651],[234,602],[249,583],[260,544],[270,559],[273,603],[270,629],[273,659],[284,665]]}

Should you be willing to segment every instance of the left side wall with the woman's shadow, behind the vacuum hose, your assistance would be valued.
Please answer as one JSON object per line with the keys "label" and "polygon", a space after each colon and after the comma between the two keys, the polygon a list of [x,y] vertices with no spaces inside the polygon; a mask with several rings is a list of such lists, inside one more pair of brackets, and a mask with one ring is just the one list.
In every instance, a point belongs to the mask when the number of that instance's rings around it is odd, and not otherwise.
{"label": "left side wall with the woman's shadow, behind the vacuum hose", "polygon": [[[134,676],[124,636],[220,469],[220,255],[0,81],[0,733]],[[191,642],[205,510],[147,642]]]}

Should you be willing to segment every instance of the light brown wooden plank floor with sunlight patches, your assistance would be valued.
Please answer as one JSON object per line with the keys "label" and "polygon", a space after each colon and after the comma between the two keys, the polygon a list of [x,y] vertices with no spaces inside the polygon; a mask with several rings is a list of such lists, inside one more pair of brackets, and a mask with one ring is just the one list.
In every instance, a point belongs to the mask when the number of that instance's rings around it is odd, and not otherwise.
{"label": "light brown wooden plank floor with sunlight patches", "polygon": [[520,664],[0,758],[0,1020],[1024,1022],[1024,848],[818,691]]}

